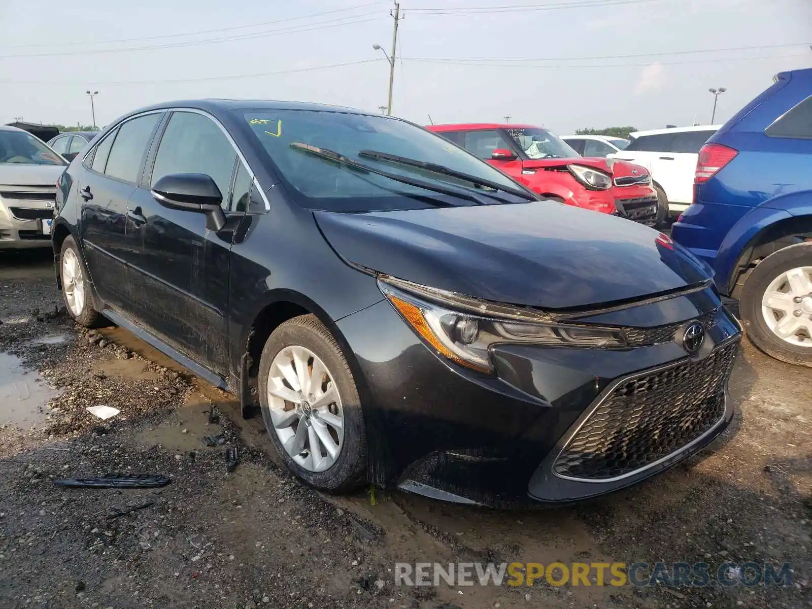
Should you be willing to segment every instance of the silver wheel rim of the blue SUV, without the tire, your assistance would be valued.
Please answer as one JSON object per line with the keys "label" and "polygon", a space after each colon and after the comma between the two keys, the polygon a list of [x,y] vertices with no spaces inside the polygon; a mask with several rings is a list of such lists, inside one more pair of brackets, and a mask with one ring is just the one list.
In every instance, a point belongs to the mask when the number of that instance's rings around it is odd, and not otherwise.
{"label": "silver wheel rim of the blue SUV, without the tire", "polygon": [[812,266],[779,274],[762,296],[767,327],[784,342],[812,348]]}

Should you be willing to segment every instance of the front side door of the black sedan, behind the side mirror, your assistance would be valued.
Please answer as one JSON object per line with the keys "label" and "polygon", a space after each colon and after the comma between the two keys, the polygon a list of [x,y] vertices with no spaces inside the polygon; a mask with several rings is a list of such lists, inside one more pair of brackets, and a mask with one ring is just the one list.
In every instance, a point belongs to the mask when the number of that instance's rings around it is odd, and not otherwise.
{"label": "front side door of the black sedan, behind the side mirror", "polygon": [[[204,114],[176,111],[128,202],[134,310],[160,338],[212,372],[228,371],[227,307],[231,235],[244,212],[231,211],[231,184],[241,165],[234,146]],[[162,206],[150,192],[164,175],[214,179],[228,222],[209,231],[204,214]]]}

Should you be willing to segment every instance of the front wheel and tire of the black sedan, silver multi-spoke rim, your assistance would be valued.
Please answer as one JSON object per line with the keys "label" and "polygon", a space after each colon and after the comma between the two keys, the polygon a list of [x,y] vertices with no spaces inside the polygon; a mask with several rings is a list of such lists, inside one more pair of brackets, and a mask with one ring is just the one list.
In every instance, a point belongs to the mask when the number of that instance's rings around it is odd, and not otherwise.
{"label": "front wheel and tire of the black sedan, silver multi-spoke rim", "polygon": [[[296,361],[305,359],[303,379]],[[339,343],[315,315],[294,317],[270,335],[262,349],[259,390],[262,418],[278,456],[274,460],[318,490],[347,493],[364,485],[361,400]],[[324,404],[317,405],[320,401]],[[341,430],[336,421],[342,421]],[[328,444],[334,451],[338,447],[336,455]]]}

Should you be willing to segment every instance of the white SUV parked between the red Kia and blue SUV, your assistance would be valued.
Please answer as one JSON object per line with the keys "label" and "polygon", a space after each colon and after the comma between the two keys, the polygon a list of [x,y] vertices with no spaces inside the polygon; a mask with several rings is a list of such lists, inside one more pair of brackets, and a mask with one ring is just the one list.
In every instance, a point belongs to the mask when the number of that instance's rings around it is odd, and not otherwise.
{"label": "white SUV parked between the red Kia and blue SUV", "polygon": [[657,196],[668,201],[672,215],[678,215],[693,201],[699,149],[719,127],[698,125],[634,132],[629,134],[632,143],[612,156],[646,167]]}

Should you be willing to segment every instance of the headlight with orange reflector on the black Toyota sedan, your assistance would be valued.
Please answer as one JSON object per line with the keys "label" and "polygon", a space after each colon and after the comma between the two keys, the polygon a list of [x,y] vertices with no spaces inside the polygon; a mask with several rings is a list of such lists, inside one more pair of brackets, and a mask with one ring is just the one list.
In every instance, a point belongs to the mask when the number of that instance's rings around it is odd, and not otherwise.
{"label": "headlight with orange reflector on the black Toyota sedan", "polygon": [[490,348],[500,343],[585,348],[626,346],[620,330],[557,323],[535,309],[487,303],[386,276],[378,277],[378,287],[434,352],[479,372],[493,372]]}

